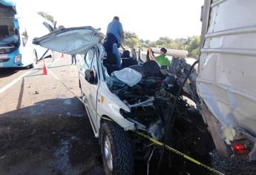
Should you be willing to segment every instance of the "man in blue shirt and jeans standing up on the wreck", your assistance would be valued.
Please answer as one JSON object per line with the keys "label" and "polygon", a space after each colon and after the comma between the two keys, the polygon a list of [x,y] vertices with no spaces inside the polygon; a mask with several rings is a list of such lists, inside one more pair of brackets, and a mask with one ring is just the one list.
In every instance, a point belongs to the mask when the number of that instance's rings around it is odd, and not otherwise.
{"label": "man in blue shirt and jeans standing up on the wreck", "polygon": [[116,62],[115,65],[118,68],[120,68],[122,65],[122,60],[118,48],[121,46],[122,49],[125,50],[125,47],[122,45],[124,39],[125,35],[122,30],[122,24],[119,22],[119,17],[114,16],[112,22],[108,24],[108,30],[103,42],[103,46],[107,52],[108,62],[111,62],[111,59],[115,58],[116,60],[114,62]]}

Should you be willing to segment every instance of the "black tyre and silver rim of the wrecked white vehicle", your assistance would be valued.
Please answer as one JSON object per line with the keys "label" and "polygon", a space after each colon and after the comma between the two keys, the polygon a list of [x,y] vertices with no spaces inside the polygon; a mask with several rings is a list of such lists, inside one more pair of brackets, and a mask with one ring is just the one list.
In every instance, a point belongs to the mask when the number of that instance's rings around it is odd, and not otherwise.
{"label": "black tyre and silver rim of the wrecked white vehicle", "polygon": [[128,133],[114,122],[104,122],[100,140],[105,174],[133,174],[134,154]]}

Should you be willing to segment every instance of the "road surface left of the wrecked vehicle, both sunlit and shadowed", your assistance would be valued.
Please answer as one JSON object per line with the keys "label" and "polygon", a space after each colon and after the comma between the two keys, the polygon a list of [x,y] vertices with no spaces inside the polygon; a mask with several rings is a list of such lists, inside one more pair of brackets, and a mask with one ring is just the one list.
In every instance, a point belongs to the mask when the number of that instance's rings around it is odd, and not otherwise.
{"label": "road surface left of the wrecked vehicle, both sunlit and shadowed", "polygon": [[103,174],[90,121],[73,95],[79,96],[76,65],[70,56],[45,62],[47,76],[42,64],[0,70],[1,90],[27,73],[0,93],[0,175]]}

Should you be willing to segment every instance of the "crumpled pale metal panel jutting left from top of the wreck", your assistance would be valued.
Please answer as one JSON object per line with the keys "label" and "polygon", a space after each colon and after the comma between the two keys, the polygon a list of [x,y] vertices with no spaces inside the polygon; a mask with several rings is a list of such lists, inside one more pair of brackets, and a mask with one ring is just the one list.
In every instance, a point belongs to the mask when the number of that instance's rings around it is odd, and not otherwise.
{"label": "crumpled pale metal panel jutting left from top of the wreck", "polygon": [[93,45],[99,43],[104,34],[93,27],[72,27],[56,30],[52,33],[33,39],[38,44],[50,50],[67,54],[85,54]]}

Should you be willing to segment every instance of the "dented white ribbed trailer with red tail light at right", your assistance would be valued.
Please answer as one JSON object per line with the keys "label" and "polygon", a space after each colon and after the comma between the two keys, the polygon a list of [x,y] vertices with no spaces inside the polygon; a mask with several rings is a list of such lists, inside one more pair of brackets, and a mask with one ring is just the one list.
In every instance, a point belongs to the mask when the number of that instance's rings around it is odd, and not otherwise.
{"label": "dented white ribbed trailer with red tail light at right", "polygon": [[197,94],[217,151],[256,159],[256,1],[205,0]]}

